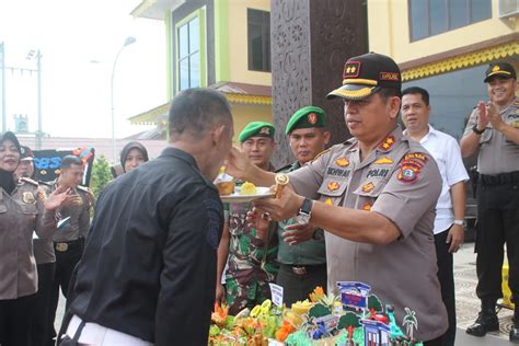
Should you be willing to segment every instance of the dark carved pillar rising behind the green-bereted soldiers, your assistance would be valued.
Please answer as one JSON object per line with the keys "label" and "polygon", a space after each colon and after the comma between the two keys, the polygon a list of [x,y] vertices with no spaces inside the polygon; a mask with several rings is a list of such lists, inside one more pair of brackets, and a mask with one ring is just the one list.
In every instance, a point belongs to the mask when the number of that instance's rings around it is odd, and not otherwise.
{"label": "dark carved pillar rising behind the green-bereted soldiers", "polygon": [[273,161],[279,168],[295,160],[285,127],[300,107],[326,112],[331,143],[349,138],[343,102],[325,96],[342,84],[346,60],[368,51],[368,25],[364,0],[272,0],[270,11],[273,120],[279,143]]}

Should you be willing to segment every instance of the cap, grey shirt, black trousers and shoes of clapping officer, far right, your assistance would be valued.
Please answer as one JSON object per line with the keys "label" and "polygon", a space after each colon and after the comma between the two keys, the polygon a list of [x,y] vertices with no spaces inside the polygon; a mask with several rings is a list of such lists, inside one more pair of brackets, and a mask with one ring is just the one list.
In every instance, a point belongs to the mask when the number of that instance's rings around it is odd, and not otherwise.
{"label": "cap, grey shirt, black trousers and shoes of clapping officer, far right", "polygon": [[[516,78],[511,66],[496,64],[486,71],[485,82],[495,74]],[[507,74],[508,73],[508,74]],[[508,76],[510,77],[510,76]],[[505,123],[519,129],[519,102],[517,99],[507,107],[500,109]],[[463,136],[477,128],[477,108],[475,108]],[[477,253],[477,287],[476,293],[482,301],[483,315],[488,320],[476,321],[469,334],[484,335],[486,331],[498,330],[495,315],[497,299],[501,292],[501,266],[504,244],[507,246],[509,263],[508,285],[511,290],[511,301],[516,304],[516,320],[519,319],[519,145],[508,140],[505,135],[494,129],[488,123],[480,137],[480,153],[477,155],[477,233],[475,251]],[[486,314],[485,312],[489,313]],[[519,321],[516,321],[515,338],[519,341]],[[483,331],[482,324],[485,325]],[[510,338],[512,336],[510,335]]]}

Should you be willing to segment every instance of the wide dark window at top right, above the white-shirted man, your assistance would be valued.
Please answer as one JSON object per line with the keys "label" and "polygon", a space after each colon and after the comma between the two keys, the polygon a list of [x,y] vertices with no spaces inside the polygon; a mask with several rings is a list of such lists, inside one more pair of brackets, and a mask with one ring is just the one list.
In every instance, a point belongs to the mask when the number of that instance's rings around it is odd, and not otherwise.
{"label": "wide dark window at top right, above the white-shirted man", "polygon": [[492,18],[489,0],[408,0],[411,41]]}

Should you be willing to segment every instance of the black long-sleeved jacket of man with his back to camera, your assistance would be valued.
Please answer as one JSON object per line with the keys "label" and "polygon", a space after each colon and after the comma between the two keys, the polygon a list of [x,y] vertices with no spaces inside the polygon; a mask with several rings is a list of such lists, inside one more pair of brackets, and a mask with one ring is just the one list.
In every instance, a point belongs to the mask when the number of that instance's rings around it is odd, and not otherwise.
{"label": "black long-sleeved jacket of man with his back to camera", "polygon": [[71,313],[155,345],[206,345],[222,224],[217,188],[166,148],[102,192]]}

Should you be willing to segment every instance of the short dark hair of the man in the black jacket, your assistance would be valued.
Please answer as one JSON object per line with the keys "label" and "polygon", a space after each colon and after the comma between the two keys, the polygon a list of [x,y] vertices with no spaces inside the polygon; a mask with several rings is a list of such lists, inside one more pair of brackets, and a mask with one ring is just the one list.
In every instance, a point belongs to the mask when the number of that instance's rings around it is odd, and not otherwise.
{"label": "short dark hair of the man in the black jacket", "polygon": [[183,135],[201,138],[216,124],[232,124],[231,106],[216,90],[187,89],[173,99],[169,120],[172,141]]}

